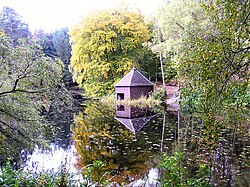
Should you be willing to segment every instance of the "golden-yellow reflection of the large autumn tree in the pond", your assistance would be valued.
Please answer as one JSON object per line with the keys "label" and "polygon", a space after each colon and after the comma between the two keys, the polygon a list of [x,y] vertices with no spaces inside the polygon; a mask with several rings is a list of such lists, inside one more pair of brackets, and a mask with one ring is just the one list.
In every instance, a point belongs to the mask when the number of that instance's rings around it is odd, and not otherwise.
{"label": "golden-yellow reflection of the large autumn tree in the pond", "polygon": [[[114,109],[100,103],[88,104],[76,116],[73,130],[76,149],[84,167],[95,160],[105,161],[103,173],[116,182],[129,182],[143,178],[155,164],[149,160],[160,152],[162,122],[144,127],[147,132],[135,135],[114,119]],[[155,123],[156,121],[154,121]],[[155,131],[153,128],[157,128]],[[152,133],[152,134],[151,134]]]}

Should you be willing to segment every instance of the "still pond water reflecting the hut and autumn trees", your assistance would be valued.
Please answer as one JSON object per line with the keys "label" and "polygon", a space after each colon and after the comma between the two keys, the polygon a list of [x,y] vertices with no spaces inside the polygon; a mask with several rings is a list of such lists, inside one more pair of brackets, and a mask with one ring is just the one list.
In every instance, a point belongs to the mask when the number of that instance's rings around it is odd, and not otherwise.
{"label": "still pond water reflecting the hut and autumn trees", "polygon": [[200,164],[210,167],[214,186],[249,186],[248,126],[207,129],[202,120],[180,116],[178,111],[86,103],[75,114],[67,138],[61,136],[49,151],[35,149],[26,168],[56,170],[66,162],[70,171],[77,172],[101,160],[106,165],[93,180],[105,174],[117,184],[158,186],[162,154],[181,151],[190,173]]}

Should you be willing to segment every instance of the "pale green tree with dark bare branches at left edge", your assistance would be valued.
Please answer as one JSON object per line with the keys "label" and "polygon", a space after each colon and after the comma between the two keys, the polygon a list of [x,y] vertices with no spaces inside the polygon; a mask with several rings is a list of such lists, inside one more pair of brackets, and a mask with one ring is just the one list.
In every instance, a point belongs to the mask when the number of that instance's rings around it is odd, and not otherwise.
{"label": "pale green tree with dark bare branches at left edge", "polygon": [[[61,83],[62,64],[44,55],[29,39],[0,36],[0,134],[1,148],[12,143],[44,142],[51,132],[42,109],[61,104],[68,97]],[[13,144],[12,144],[13,145]]]}

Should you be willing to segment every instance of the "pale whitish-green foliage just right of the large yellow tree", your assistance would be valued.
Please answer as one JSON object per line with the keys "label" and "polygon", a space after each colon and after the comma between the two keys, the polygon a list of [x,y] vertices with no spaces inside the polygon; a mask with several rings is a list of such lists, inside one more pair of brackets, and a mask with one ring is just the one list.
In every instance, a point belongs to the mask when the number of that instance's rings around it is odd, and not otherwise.
{"label": "pale whitish-green foliage just right of the large yellow tree", "polygon": [[179,56],[182,49],[182,38],[189,26],[202,28],[206,19],[198,0],[170,0],[162,2],[155,21],[155,40],[152,50],[163,54],[165,79],[176,77],[179,67]]}

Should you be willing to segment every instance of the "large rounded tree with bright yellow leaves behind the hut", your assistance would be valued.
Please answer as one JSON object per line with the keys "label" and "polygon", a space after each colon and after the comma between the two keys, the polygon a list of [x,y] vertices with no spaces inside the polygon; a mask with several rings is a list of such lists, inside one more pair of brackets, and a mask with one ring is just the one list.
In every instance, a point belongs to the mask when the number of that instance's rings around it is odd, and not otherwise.
{"label": "large rounded tree with bright yellow leaves behind the hut", "polygon": [[149,28],[143,17],[128,9],[104,10],[84,18],[70,32],[71,72],[89,96],[114,91],[114,83],[138,67]]}

